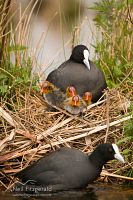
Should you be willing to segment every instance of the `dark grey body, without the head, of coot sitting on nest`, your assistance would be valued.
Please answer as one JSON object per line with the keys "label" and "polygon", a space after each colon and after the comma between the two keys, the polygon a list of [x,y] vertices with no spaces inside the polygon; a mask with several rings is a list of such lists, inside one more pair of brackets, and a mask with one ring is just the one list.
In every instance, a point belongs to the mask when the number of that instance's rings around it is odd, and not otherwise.
{"label": "dark grey body, without the head, of coot sitting on nest", "polygon": [[89,70],[84,64],[76,63],[72,60],[64,62],[58,69],[51,72],[47,80],[52,82],[63,92],[68,86],[74,86],[77,93],[82,96],[89,91],[93,95],[92,101],[97,101],[102,95],[102,91],[106,88],[106,81],[103,73],[91,61],[91,69]]}

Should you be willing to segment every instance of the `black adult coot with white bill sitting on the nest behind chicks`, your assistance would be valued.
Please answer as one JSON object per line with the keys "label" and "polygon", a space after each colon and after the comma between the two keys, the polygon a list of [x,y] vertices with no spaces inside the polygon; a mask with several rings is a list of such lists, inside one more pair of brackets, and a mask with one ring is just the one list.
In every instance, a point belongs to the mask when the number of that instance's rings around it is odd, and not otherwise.
{"label": "black adult coot with white bill sitting on the nest behind chicks", "polygon": [[63,92],[68,86],[74,86],[80,96],[89,91],[92,102],[96,102],[107,87],[103,73],[89,60],[89,50],[84,45],[75,46],[70,59],[52,71],[47,80]]}

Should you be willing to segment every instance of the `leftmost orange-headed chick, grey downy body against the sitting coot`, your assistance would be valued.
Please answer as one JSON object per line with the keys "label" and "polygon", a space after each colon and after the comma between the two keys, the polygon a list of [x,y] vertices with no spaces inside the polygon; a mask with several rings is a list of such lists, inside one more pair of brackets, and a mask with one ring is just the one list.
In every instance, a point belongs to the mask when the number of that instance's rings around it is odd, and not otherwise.
{"label": "leftmost orange-headed chick, grey downy body against the sitting coot", "polygon": [[44,81],[41,84],[40,93],[50,105],[60,107],[60,104],[65,100],[65,95],[55,85],[49,81]]}

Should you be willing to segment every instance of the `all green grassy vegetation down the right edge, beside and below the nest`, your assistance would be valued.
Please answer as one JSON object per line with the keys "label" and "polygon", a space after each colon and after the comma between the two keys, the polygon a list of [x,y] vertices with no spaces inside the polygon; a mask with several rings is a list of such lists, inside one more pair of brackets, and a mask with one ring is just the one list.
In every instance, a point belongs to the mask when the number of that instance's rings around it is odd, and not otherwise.
{"label": "all green grassy vegetation down the right edge, beside and below the nest", "polygon": [[[102,0],[92,9],[97,11],[94,21],[102,33],[101,41],[95,45],[96,63],[104,71],[108,87],[119,87],[132,101],[133,0]],[[129,114],[133,115],[132,103]],[[133,119],[124,124],[123,137],[117,143],[124,149],[126,161],[131,163],[123,175],[133,177]]]}

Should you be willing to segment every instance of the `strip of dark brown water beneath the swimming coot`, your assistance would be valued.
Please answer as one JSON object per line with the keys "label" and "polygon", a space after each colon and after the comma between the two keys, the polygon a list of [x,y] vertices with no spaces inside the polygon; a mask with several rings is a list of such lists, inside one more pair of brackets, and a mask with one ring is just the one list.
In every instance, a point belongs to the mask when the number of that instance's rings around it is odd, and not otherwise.
{"label": "strip of dark brown water beneath the swimming coot", "polygon": [[66,191],[54,194],[12,194],[1,192],[0,200],[133,200],[133,188],[122,188],[118,185],[89,185],[85,190]]}

